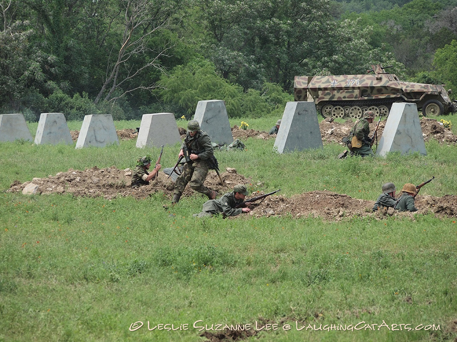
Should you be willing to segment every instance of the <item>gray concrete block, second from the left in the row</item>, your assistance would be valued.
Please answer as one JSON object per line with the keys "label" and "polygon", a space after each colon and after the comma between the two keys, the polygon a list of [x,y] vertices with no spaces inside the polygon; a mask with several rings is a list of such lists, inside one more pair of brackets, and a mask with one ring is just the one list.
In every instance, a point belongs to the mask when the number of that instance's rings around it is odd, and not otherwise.
{"label": "gray concrete block, second from the left in the row", "polygon": [[42,113],[40,115],[35,144],[73,144],[64,114]]}

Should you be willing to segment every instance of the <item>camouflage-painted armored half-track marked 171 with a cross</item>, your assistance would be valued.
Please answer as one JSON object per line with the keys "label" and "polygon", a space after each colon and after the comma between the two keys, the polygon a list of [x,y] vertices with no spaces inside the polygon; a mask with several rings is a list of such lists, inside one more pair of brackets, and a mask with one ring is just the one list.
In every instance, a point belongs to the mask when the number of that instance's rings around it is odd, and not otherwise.
{"label": "camouflage-painted armored half-track marked 171 with a cross", "polygon": [[415,103],[424,116],[456,112],[443,85],[400,81],[372,65],[366,75],[295,76],[295,101],[314,101],[324,117],[360,118],[368,110],[388,115],[394,102]]}

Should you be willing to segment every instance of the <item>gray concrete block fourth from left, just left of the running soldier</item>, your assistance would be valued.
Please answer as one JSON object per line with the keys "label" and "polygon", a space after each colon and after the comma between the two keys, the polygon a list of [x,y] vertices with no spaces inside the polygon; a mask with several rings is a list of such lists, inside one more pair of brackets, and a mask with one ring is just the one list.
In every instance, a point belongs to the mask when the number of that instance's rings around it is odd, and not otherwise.
{"label": "gray concrete block fourth from left, just left of the running soldier", "polygon": [[136,139],[136,147],[161,147],[181,142],[173,113],[144,114]]}

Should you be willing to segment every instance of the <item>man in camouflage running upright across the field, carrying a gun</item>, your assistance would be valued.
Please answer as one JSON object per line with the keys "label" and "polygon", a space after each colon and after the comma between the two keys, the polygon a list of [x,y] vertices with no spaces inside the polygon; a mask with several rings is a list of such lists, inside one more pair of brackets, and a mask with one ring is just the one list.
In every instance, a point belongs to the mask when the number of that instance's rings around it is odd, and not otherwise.
{"label": "man in camouflage running upright across the field, carrying a gun", "polygon": [[178,158],[184,156],[184,148],[187,148],[190,160],[186,161],[181,175],[176,179],[171,202],[179,202],[179,198],[181,198],[188,183],[193,190],[207,195],[209,199],[216,198],[217,192],[203,185],[210,167],[209,159],[213,157],[213,148],[211,138],[200,129],[197,120],[191,120],[187,123],[186,138]]}

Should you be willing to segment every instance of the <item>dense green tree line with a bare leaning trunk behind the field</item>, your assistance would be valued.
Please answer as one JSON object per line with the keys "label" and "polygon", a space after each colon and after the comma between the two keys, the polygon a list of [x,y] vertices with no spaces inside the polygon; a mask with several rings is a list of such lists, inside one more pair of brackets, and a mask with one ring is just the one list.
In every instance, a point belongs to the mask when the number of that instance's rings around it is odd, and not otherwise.
{"label": "dense green tree line with a bare leaning trunk behind the field", "polygon": [[457,91],[456,6],[0,0],[0,111],[30,121],[51,112],[190,117],[199,100],[222,99],[231,117],[281,115],[294,76],[364,74],[371,64]]}

